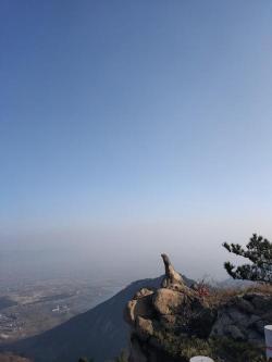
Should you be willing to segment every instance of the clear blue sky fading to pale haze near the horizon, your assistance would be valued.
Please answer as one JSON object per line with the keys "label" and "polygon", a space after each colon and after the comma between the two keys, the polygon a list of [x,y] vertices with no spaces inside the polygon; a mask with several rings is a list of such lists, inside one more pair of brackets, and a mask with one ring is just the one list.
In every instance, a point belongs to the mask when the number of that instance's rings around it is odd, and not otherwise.
{"label": "clear blue sky fading to pale haze near the horizon", "polygon": [[2,247],[272,238],[270,0],[2,0],[0,51]]}

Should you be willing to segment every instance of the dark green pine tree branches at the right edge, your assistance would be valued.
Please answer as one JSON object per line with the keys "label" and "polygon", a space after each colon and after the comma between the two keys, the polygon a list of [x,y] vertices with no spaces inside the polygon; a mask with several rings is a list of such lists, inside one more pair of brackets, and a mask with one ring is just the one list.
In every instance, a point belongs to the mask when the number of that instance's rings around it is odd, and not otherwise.
{"label": "dark green pine tree branches at the right edge", "polygon": [[224,242],[223,247],[251,262],[236,267],[231,262],[225,262],[224,267],[234,279],[272,284],[272,242],[254,234],[245,249],[238,244]]}

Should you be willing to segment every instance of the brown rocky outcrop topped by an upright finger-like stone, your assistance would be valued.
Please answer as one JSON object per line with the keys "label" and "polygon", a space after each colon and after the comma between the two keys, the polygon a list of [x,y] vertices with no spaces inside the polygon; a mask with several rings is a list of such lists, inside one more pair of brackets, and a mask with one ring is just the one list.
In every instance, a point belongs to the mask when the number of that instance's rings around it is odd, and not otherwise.
{"label": "brown rocky outcrop topped by an upright finger-like stone", "polygon": [[[263,326],[272,324],[272,295],[246,292],[215,302],[197,286],[186,286],[169,258],[162,254],[162,259],[161,287],[140,289],[125,309],[131,325],[129,362],[185,362],[198,351],[222,362],[239,361],[224,355],[227,346],[242,351],[251,348],[250,355],[256,350],[261,355]],[[246,354],[240,358],[250,361]]]}

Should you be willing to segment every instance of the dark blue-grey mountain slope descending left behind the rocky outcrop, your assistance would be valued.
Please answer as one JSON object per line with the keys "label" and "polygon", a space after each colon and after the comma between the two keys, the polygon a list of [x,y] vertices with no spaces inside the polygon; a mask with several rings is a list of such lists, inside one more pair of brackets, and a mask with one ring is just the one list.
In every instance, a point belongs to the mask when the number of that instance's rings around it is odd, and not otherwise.
{"label": "dark blue-grey mountain slope descending left behind the rocky outcrop", "polygon": [[[160,282],[161,277],[132,283],[88,312],[8,348],[24,353],[35,362],[76,362],[79,357],[92,357],[96,362],[104,362],[128,345],[128,327],[123,321],[127,301],[140,288],[158,288]],[[186,282],[193,283],[189,279]]]}

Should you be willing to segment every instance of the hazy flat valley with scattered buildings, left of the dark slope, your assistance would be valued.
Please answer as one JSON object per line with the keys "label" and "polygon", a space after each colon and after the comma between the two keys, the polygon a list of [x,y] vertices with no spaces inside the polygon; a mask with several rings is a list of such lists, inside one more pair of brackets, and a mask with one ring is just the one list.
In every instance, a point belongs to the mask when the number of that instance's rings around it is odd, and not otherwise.
{"label": "hazy flat valley with scattered buildings, left of the dark slope", "polygon": [[121,289],[78,278],[0,284],[0,346],[38,335],[84,313]]}

